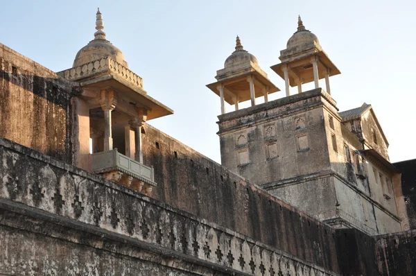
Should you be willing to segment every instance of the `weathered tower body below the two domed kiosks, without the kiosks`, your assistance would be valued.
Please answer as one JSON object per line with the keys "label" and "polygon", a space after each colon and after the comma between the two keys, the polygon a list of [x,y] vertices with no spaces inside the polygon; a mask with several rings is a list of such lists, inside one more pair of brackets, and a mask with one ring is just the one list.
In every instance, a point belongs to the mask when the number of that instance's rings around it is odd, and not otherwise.
{"label": "weathered tower body below the two domed kiosks, without the kiosks", "polygon": [[[376,183],[373,168],[389,179],[390,189],[397,172],[361,155],[361,141],[322,89],[218,119],[222,164],[250,183],[335,227],[368,234],[401,230],[397,201],[387,199],[388,188],[381,187],[387,184]],[[390,198],[399,197],[395,192]]]}

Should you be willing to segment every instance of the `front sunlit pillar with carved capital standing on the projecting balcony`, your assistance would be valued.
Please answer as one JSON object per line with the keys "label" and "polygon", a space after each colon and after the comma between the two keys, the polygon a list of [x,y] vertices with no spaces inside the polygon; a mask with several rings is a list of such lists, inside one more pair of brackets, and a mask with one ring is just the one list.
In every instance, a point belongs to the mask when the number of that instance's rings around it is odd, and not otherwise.
{"label": "front sunlit pillar with carved capital standing on the projecting balcony", "polygon": [[116,104],[112,90],[101,90],[100,105],[104,111],[104,151],[112,150],[111,112],[116,108]]}

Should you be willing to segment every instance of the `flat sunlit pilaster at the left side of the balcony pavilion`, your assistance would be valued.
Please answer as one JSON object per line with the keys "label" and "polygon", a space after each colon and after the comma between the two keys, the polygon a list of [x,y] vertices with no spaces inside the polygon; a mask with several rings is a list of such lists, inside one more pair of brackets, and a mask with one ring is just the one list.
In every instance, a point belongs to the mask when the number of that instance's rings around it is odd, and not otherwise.
{"label": "flat sunlit pilaster at the left side of the balcony pavilion", "polygon": [[73,164],[85,171],[91,171],[91,155],[89,154],[89,105],[82,98],[72,100],[73,114],[76,117],[74,126],[75,155]]}

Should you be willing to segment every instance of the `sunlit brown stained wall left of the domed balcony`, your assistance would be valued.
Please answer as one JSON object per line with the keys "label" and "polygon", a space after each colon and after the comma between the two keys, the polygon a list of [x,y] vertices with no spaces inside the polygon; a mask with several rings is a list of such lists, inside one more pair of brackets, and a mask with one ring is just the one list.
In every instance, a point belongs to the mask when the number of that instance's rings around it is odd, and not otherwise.
{"label": "sunlit brown stained wall left of the domed balcony", "polygon": [[0,137],[71,163],[75,87],[0,44]]}

